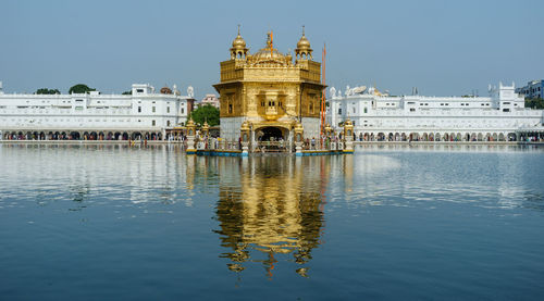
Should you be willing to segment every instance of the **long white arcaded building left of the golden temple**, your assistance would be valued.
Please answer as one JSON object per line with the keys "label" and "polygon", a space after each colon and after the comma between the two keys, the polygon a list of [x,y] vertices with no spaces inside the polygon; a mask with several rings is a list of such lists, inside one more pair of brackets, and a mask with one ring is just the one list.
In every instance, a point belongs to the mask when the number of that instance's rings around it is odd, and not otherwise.
{"label": "long white arcaded building left of the golden temple", "polygon": [[0,139],[163,139],[193,110],[193,88],[173,90],[134,84],[132,95],[21,95],[0,84]]}

